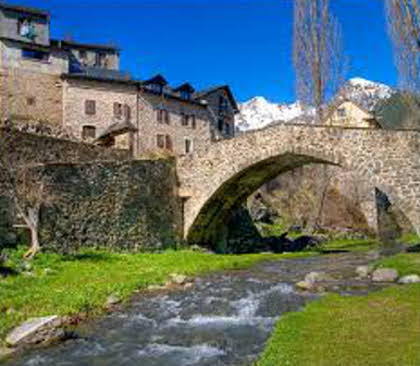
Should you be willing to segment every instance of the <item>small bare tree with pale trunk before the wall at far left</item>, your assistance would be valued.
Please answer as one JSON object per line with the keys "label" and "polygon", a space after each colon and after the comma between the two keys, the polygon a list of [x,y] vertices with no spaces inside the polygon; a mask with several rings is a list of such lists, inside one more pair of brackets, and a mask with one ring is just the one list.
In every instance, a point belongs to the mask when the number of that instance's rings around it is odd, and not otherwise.
{"label": "small bare tree with pale trunk before the wall at far left", "polygon": [[33,258],[41,249],[39,242],[39,220],[42,206],[48,206],[54,202],[50,186],[37,174],[35,166],[27,165],[32,157],[20,157],[15,161],[8,153],[5,134],[7,131],[1,129],[0,140],[0,169],[2,174],[2,195],[8,197],[13,203],[18,215],[25,222],[31,233],[31,243],[29,250],[24,254],[24,258]]}

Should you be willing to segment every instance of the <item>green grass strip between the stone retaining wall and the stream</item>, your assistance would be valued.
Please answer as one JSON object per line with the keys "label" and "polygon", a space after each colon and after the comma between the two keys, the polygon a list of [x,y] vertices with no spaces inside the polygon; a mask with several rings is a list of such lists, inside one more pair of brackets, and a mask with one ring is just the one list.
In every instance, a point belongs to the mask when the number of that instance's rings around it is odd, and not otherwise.
{"label": "green grass strip between the stone retaining wall and the stream", "polygon": [[[23,252],[23,248],[9,252],[12,268],[21,267]],[[193,251],[160,254],[85,251],[77,256],[40,253],[31,262],[34,277],[19,274],[0,278],[0,339],[30,317],[79,312],[97,315],[103,310],[110,294],[127,300],[138,289],[163,284],[174,272],[192,276],[215,270],[245,268],[261,260],[302,255],[305,253],[241,256]]]}

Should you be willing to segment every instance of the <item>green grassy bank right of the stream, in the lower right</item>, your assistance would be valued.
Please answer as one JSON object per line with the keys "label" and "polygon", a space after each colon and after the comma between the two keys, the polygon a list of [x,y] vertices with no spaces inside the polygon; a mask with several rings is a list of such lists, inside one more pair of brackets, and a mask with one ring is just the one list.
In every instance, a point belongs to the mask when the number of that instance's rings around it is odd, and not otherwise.
{"label": "green grassy bank right of the stream, in the lower right", "polygon": [[[420,274],[420,255],[377,265]],[[278,322],[258,366],[420,365],[419,319],[419,284],[364,297],[327,295]]]}

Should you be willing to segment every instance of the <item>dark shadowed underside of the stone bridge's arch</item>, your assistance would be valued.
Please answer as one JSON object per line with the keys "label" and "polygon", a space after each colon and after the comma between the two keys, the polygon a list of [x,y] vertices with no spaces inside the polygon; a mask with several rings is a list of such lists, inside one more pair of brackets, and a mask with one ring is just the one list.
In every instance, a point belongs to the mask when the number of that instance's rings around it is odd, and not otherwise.
{"label": "dark shadowed underside of the stone bridge's arch", "polygon": [[263,184],[308,164],[337,165],[307,155],[285,153],[253,164],[223,183],[206,201],[187,235],[189,243],[213,247],[233,210]]}

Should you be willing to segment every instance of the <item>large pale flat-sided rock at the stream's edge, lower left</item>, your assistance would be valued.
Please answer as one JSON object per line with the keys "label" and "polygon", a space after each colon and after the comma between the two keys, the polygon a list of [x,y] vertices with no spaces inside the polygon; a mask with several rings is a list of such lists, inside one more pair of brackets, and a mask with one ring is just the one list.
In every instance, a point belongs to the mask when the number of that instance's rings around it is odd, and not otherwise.
{"label": "large pale flat-sided rock at the stream's edge, lower left", "polygon": [[32,318],[13,329],[6,337],[9,347],[21,347],[30,344],[49,344],[66,337],[66,332],[60,328],[63,320],[57,316]]}

